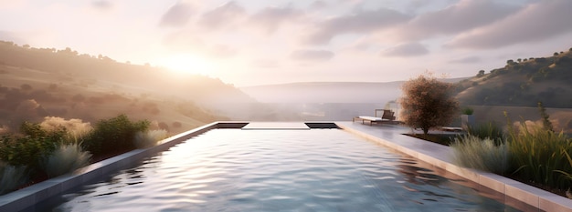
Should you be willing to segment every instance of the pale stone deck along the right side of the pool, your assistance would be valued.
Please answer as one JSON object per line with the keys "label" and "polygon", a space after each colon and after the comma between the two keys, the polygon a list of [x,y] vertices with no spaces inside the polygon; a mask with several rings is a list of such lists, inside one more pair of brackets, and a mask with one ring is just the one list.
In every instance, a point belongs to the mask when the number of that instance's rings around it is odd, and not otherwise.
{"label": "pale stone deck along the right side of the pool", "polygon": [[[363,136],[380,145],[425,161],[434,167],[439,167],[460,177],[467,178],[480,184],[482,187],[488,187],[504,194],[507,205],[511,205],[511,203],[518,204],[516,202],[519,201],[536,207],[539,211],[572,211],[572,199],[528,186],[510,178],[457,167],[452,162],[453,153],[449,146],[442,146],[403,135],[411,133],[412,130],[410,128],[384,124],[369,126],[363,125],[361,122],[335,122],[335,124],[357,136]],[[433,131],[432,133],[445,134],[450,132]]]}

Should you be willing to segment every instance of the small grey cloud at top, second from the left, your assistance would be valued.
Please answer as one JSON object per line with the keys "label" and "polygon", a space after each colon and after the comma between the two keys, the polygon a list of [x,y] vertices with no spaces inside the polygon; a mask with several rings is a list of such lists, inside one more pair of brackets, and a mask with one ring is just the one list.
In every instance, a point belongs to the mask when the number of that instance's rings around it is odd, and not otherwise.
{"label": "small grey cloud at top, second from the left", "polygon": [[245,14],[242,6],[231,1],[202,15],[198,24],[207,29],[218,29],[242,18]]}

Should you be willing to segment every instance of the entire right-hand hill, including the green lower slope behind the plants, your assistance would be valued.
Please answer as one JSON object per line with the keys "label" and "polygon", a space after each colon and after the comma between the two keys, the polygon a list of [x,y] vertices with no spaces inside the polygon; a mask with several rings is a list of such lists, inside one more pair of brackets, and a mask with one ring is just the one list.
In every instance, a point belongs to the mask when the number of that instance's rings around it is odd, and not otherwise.
{"label": "entire right-hand hill, including the green lower slope behind the plants", "polygon": [[481,70],[457,84],[461,105],[471,106],[478,122],[504,125],[513,121],[541,120],[542,102],[557,131],[572,133],[572,48],[553,56],[507,60],[485,74]]}

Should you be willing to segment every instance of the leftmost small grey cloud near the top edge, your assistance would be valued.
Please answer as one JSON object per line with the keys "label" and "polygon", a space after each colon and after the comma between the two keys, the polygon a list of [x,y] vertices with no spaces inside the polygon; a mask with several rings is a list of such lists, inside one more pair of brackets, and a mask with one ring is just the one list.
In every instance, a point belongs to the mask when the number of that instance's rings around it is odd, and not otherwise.
{"label": "leftmost small grey cloud near the top edge", "polygon": [[190,20],[195,8],[185,2],[179,2],[171,6],[161,17],[160,26],[183,26]]}

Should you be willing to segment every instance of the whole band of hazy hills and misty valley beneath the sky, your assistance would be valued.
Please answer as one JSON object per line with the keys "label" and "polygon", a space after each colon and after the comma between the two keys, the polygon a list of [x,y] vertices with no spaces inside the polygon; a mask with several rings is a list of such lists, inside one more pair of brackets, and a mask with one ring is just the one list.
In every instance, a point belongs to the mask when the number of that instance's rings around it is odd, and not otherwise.
{"label": "whole band of hazy hills and misty valley beneath the sky", "polygon": [[[461,106],[481,120],[537,120],[542,101],[557,126],[572,128],[572,53],[507,60],[475,76],[443,79],[457,85]],[[69,48],[34,48],[0,42],[0,126],[44,116],[94,122],[126,114],[171,133],[217,120],[348,121],[399,110],[397,82],[305,82],[234,87],[207,76],[119,63]],[[397,115],[398,116],[398,115]],[[398,118],[398,117],[397,117]],[[452,125],[456,125],[453,123]]]}

